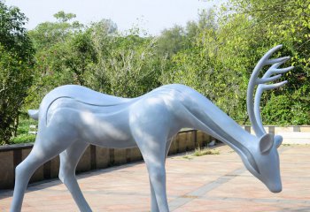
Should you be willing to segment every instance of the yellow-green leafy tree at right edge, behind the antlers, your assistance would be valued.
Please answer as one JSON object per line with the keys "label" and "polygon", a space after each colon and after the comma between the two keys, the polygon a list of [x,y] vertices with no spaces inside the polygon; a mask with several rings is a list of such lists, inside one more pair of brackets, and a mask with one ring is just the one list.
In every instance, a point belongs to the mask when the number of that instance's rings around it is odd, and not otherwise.
{"label": "yellow-green leafy tree at right edge, behind the antlers", "polygon": [[[224,46],[246,52],[247,61],[255,64],[267,49],[282,43],[283,49],[279,54],[291,56],[291,63],[295,69],[285,74],[289,79],[288,85],[268,92],[262,99],[262,113],[265,124],[309,125],[310,123],[310,2],[308,0],[264,1],[264,0],[230,0],[223,7],[221,27],[224,28]],[[236,21],[243,19],[243,21]],[[240,57],[239,57],[240,58]],[[240,61],[240,60],[239,60]],[[244,64],[240,67],[246,68]],[[244,69],[243,68],[243,69]],[[251,66],[246,69],[252,70]],[[246,75],[244,75],[246,76]],[[278,101],[275,103],[275,99]],[[270,99],[271,98],[271,99]],[[270,99],[270,101],[269,101]],[[287,110],[287,99],[293,101]],[[283,101],[283,102],[281,102]],[[277,107],[282,107],[279,115]],[[266,110],[266,111],[265,111]],[[278,117],[271,114],[278,114]],[[277,120],[281,120],[277,122]]]}

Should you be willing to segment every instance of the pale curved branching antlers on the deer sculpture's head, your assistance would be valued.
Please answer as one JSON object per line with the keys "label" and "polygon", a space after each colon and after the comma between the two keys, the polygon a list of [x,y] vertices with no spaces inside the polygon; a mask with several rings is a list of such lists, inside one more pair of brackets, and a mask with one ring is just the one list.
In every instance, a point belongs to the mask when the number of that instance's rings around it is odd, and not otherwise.
{"label": "pale curved branching antlers on the deer sculpture's head", "polygon": [[[250,117],[250,121],[252,123],[253,130],[256,136],[258,137],[266,134],[266,131],[264,130],[264,127],[261,122],[261,117],[260,117],[260,97],[262,93],[265,90],[282,87],[283,85],[287,83],[287,81],[284,80],[282,82],[278,82],[275,84],[269,84],[269,85],[266,85],[264,83],[272,82],[272,81],[275,81],[276,79],[280,79],[282,76],[281,73],[289,72],[291,71],[291,69],[294,68],[293,66],[287,67],[287,68],[278,68],[281,64],[285,63],[288,59],[290,59],[290,57],[280,57],[276,59],[269,59],[269,57],[271,57],[271,55],[280,48],[282,48],[282,45],[278,45],[274,47],[273,49],[268,50],[267,53],[263,57],[260,58],[259,63],[256,64],[252,72],[249,85],[248,85],[247,96],[246,96],[247,111]],[[260,70],[266,64],[272,64],[272,65],[267,70],[267,72],[264,74],[264,76],[262,78],[259,78]],[[277,75],[271,76],[275,73],[277,73]],[[254,100],[255,100],[254,102],[253,93],[254,93],[255,86],[258,86],[258,87],[257,87],[256,94],[254,97]]]}

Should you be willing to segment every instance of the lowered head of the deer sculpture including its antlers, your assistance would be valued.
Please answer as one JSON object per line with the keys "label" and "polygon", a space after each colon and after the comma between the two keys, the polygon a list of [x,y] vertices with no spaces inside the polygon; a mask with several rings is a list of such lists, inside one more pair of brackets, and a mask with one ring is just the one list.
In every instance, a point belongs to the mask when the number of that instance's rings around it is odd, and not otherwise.
{"label": "lowered head of the deer sculpture including its antlers", "polygon": [[[267,188],[273,192],[278,193],[282,191],[282,183],[280,176],[280,164],[277,148],[282,143],[282,136],[266,133],[261,122],[260,117],[260,97],[263,91],[282,87],[287,81],[278,82],[275,84],[265,84],[267,82],[280,79],[281,73],[289,72],[293,69],[293,66],[286,68],[278,68],[281,64],[285,63],[290,57],[280,57],[276,59],[269,59],[272,54],[282,48],[282,45],[278,45],[273,49],[267,51],[267,53],[261,57],[259,63],[255,66],[247,90],[247,110],[252,123],[252,128],[259,138],[258,145],[250,148],[254,160],[244,163],[246,168],[256,177],[262,181]],[[267,72],[262,78],[259,78],[261,69],[271,64]],[[273,74],[277,74],[272,76]],[[256,94],[253,97],[254,89],[257,86]]]}

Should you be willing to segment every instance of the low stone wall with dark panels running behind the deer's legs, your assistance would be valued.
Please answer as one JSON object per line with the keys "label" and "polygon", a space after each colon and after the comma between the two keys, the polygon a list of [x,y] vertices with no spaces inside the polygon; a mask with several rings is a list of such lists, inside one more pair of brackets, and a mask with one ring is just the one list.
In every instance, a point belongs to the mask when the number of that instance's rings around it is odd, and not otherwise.
{"label": "low stone wall with dark panels running behind the deer's legs", "polygon": [[[244,126],[248,132],[252,132],[250,126]],[[277,127],[267,126],[267,133],[280,132],[305,132],[310,133],[310,126],[289,126]],[[208,142],[214,140],[210,135],[196,130],[184,130],[174,136],[169,150],[169,155],[193,150],[198,147],[205,147]],[[0,147],[0,189],[9,189],[14,186],[15,168],[29,155],[33,144],[19,144]],[[81,156],[76,172],[97,170],[141,161],[142,155],[138,148],[113,149],[100,148],[90,145]],[[58,178],[59,157],[50,160],[35,171],[30,182],[37,182],[44,179]]]}

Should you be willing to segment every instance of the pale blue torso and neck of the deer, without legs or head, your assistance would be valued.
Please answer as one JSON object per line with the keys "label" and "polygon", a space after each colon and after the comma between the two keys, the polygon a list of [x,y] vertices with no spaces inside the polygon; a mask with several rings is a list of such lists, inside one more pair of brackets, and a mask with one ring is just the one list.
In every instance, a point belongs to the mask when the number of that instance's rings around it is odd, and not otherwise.
{"label": "pale blue torso and neck of the deer, without legs or head", "polygon": [[51,122],[57,122],[58,130],[71,126],[77,140],[105,148],[136,147],[133,125],[148,123],[151,127],[164,126],[167,140],[184,127],[202,130],[230,146],[255,140],[213,102],[183,85],[159,87],[134,99],[103,95],[81,86],[63,86],[46,95],[40,111],[40,133],[50,131]]}

